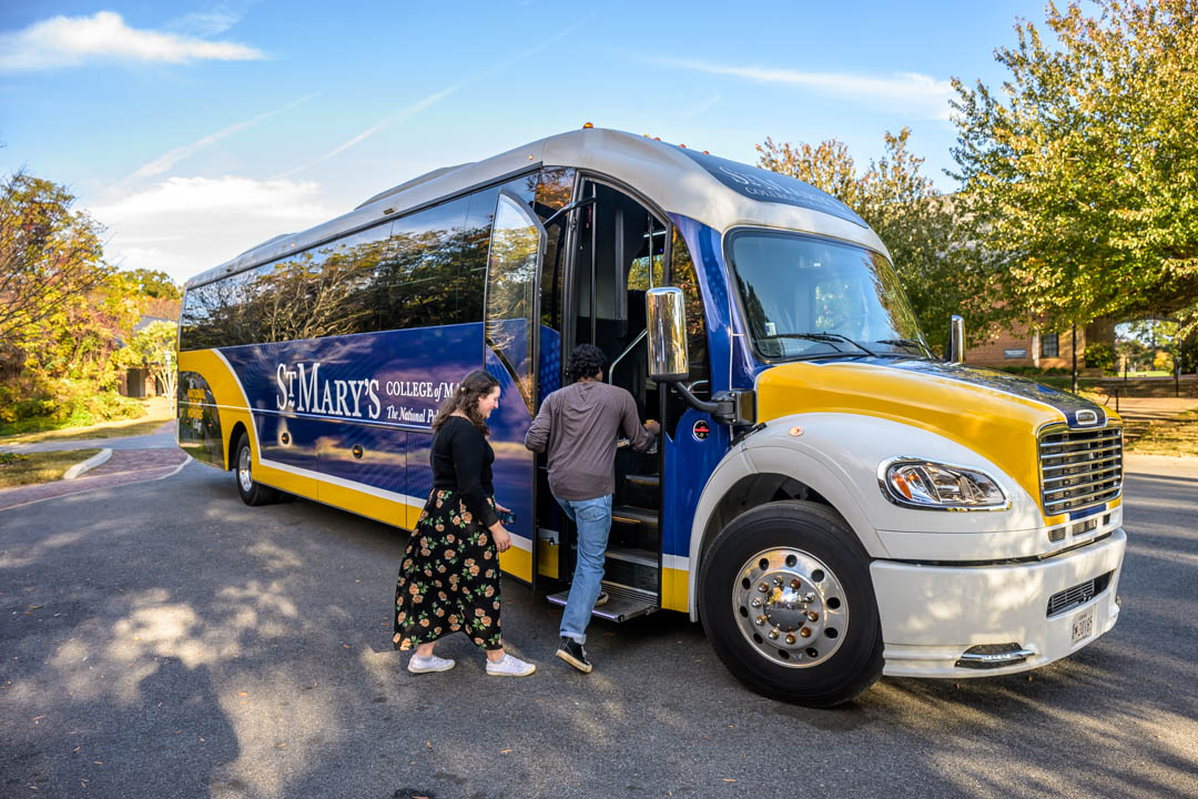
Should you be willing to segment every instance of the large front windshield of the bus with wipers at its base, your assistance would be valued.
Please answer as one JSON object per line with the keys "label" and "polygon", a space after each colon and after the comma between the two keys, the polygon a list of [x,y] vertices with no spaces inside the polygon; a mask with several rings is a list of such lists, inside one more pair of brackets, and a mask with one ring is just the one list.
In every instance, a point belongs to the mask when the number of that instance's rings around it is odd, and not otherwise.
{"label": "large front windshield of the bus with wipers at its base", "polygon": [[763,230],[734,232],[730,254],[762,357],[931,357],[898,276],[881,254]]}

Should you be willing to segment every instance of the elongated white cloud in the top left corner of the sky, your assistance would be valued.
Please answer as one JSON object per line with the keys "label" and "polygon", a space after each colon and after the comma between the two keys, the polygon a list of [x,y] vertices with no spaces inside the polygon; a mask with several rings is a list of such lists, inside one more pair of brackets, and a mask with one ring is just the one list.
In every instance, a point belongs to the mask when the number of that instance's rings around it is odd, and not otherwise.
{"label": "elongated white cloud in the top left corner of the sky", "polygon": [[235,42],[129,28],[111,11],[92,17],[52,17],[19,31],[0,34],[0,72],[71,67],[92,59],[187,63],[264,57],[261,50]]}

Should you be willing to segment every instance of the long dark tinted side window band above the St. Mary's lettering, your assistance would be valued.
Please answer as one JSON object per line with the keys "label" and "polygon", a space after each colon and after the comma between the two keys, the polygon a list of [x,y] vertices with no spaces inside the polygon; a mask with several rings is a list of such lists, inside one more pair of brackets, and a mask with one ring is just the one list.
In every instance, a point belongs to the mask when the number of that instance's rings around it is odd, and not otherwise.
{"label": "long dark tinted side window band above the St. Mary's lettering", "polygon": [[[503,188],[532,201],[536,186],[531,172]],[[192,289],[183,298],[180,347],[480,322],[500,188]]]}

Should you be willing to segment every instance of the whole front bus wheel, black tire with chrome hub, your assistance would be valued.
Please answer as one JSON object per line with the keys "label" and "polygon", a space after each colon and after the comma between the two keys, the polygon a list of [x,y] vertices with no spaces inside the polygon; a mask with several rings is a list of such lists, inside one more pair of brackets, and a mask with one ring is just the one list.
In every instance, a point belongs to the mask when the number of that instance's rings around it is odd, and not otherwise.
{"label": "whole front bus wheel, black tire with chrome hub", "polygon": [[870,558],[822,504],[772,502],[733,519],[703,557],[698,588],[716,654],[763,696],[830,707],[882,674]]}

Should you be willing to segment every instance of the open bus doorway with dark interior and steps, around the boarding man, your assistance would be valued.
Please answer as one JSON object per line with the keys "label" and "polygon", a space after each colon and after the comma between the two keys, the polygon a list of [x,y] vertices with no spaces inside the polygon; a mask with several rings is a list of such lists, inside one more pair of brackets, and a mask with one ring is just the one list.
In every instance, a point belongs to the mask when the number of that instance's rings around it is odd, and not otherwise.
{"label": "open bus doorway with dark interior and steps, around the boarding man", "polygon": [[[641,420],[660,419],[664,391],[648,380],[645,292],[664,285],[667,226],[629,194],[583,180],[577,196],[565,292],[563,361],[579,344],[594,344],[607,361],[604,380],[631,393]],[[615,622],[661,606],[661,462],[654,447],[619,444],[612,527],[604,567],[606,604],[594,615]],[[563,541],[562,577],[574,573],[576,543]],[[569,592],[550,597],[564,604]]]}

